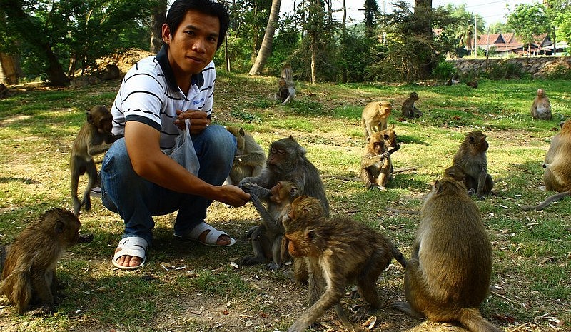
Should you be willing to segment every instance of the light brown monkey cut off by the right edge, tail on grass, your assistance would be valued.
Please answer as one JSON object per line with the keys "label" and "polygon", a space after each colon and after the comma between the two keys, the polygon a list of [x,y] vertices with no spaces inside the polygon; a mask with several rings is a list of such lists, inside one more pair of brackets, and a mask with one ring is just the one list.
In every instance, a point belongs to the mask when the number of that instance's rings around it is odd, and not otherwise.
{"label": "light brown monkey cut off by the right edge, tail on grass", "polygon": [[536,206],[523,206],[524,210],[541,210],[563,197],[571,196],[571,120],[565,121],[559,134],[553,136],[542,167],[545,190],[557,191]]}

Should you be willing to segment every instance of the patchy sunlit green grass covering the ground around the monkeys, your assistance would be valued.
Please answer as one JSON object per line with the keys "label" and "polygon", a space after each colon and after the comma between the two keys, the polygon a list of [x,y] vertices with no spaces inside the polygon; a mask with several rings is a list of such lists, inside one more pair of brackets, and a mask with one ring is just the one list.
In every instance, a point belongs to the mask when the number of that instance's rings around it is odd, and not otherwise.
{"label": "patchy sunlit green grass covering the ground around the monkeys", "polygon": [[[549,194],[539,188],[541,162],[559,121],[571,117],[571,81],[484,80],[478,89],[461,84],[297,86],[295,100],[282,106],[273,100],[275,79],[221,73],[213,120],[243,126],[264,149],[271,141],[293,135],[320,172],[329,176],[324,176],[324,183],[332,214],[349,214],[382,231],[405,256],[410,256],[418,216],[385,208],[418,210],[431,183],[452,164],[465,133],[484,131],[495,195],[476,203],[494,249],[492,284],[502,293],[492,293],[482,313],[505,331],[553,331],[554,319],[563,322],[559,331],[571,331],[571,199],[544,211],[520,209]],[[555,114],[551,121],[530,118],[539,87],[550,98]],[[47,209],[71,208],[71,143],[85,110],[111,105],[117,89],[118,81],[76,90],[18,88],[0,100],[1,243],[11,243]],[[424,115],[400,121],[400,104],[410,91],[418,92],[417,107]],[[383,99],[393,103],[389,126],[402,144],[393,154],[395,168],[417,170],[396,174],[387,191],[330,177],[360,176],[365,145],[360,112],[370,101]],[[86,179],[81,178],[80,189],[84,186]],[[277,273],[263,266],[231,266],[231,261],[251,253],[243,239],[258,223],[251,204],[229,208],[213,203],[209,209],[207,221],[238,240],[229,248],[174,240],[175,216],[157,217],[146,266],[133,272],[118,271],[110,263],[123,232],[121,218],[98,199],[93,204],[93,210],[82,211],[80,218],[81,230],[93,233],[94,241],[70,248],[57,267],[62,286],[57,313],[46,318],[18,316],[5,298],[0,299],[0,331],[285,331],[306,308],[304,288],[293,283],[291,266]],[[179,269],[165,271],[161,263]],[[374,331],[445,331],[390,308],[404,296],[403,274],[397,266],[380,278],[380,296],[386,304],[377,313]],[[359,300],[344,298],[343,303],[347,308]],[[340,328],[331,311],[321,322]]]}

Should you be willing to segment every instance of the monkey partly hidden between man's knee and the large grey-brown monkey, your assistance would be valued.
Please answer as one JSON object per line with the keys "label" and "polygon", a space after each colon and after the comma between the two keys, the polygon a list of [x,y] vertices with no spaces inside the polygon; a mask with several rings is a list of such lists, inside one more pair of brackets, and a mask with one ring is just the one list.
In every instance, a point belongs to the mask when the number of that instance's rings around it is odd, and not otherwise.
{"label": "monkey partly hidden between man's knee and the large grey-brown monkey", "polygon": [[228,176],[228,182],[238,185],[243,178],[260,175],[263,165],[266,163],[266,154],[253,136],[246,133],[243,128],[227,126],[226,129],[236,136],[238,148]]}

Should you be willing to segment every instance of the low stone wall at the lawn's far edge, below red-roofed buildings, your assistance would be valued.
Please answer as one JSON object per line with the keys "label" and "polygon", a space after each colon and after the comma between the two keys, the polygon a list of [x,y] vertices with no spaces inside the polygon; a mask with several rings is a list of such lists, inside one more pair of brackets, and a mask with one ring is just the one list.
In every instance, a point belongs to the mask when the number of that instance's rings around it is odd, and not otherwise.
{"label": "low stone wall at the lawn's far edge, below red-roofed buildings", "polygon": [[478,76],[485,73],[487,66],[506,66],[513,64],[520,71],[532,74],[534,78],[545,78],[556,71],[571,69],[571,56],[531,56],[508,59],[458,59],[448,61],[453,64],[458,74]]}

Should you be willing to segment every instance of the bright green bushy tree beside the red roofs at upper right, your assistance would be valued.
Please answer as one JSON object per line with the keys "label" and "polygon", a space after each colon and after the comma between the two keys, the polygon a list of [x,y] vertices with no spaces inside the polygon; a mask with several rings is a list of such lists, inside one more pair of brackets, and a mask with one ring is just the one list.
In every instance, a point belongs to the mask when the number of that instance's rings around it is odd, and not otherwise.
{"label": "bright green bushy tree beside the red roofs at upper right", "polygon": [[528,53],[535,36],[550,32],[550,22],[545,14],[545,6],[540,4],[517,4],[507,17],[507,26],[520,36]]}

